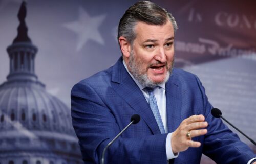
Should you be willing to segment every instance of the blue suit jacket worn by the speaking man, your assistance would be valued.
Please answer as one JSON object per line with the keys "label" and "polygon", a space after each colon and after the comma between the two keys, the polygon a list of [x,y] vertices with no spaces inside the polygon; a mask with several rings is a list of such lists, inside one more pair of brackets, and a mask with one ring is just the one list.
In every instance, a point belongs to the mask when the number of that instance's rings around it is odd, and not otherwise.
{"label": "blue suit jacket worn by the speaking man", "polygon": [[[220,119],[210,114],[212,106],[199,79],[173,69],[166,83],[168,132],[182,120],[203,114],[208,133],[195,137],[199,148],[180,152],[170,163],[200,163],[204,153],[217,163],[247,163],[255,154]],[[167,163],[165,142],[143,93],[122,64],[122,58],[105,71],[74,85],[71,91],[73,127],[85,163],[99,163],[104,147],[127,125],[133,114],[141,121],[127,129],[106,152],[106,163]]]}

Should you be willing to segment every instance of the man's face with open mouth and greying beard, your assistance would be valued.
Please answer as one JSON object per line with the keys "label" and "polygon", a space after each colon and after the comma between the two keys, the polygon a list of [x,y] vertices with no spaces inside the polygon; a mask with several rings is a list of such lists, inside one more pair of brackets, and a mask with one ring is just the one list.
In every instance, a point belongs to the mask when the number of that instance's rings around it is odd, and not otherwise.
{"label": "man's face with open mouth and greying beard", "polygon": [[165,25],[138,22],[136,39],[128,57],[129,71],[143,87],[165,83],[174,62],[174,29],[170,21]]}

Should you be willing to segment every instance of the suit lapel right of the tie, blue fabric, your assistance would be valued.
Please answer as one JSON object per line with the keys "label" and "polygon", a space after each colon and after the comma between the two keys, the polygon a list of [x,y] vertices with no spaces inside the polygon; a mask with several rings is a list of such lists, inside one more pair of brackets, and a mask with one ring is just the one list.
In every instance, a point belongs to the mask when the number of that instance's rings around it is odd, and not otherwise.
{"label": "suit lapel right of the tie, blue fabric", "polygon": [[175,70],[165,85],[168,133],[174,132],[181,119],[181,91]]}

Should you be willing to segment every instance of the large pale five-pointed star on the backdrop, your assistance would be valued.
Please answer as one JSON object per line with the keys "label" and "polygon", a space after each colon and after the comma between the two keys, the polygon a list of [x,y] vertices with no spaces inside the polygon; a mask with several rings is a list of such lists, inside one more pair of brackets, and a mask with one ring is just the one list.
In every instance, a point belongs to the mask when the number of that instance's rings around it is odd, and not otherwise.
{"label": "large pale five-pointed star on the backdrop", "polygon": [[67,29],[77,33],[76,51],[81,50],[82,46],[86,44],[89,39],[92,39],[101,45],[104,44],[104,40],[100,35],[98,28],[105,17],[105,14],[90,17],[82,7],[79,7],[78,20],[63,24]]}

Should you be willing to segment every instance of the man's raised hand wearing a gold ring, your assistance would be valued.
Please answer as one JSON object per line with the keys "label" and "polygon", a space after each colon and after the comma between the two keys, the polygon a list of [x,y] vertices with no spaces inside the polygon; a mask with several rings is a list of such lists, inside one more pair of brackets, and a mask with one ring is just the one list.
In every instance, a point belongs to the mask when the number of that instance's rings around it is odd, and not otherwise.
{"label": "man's raised hand wearing a gold ring", "polygon": [[188,147],[200,147],[201,143],[195,142],[191,138],[207,133],[207,129],[201,129],[208,126],[208,123],[204,119],[202,114],[193,115],[181,122],[180,126],[173,132],[171,138],[174,154],[185,151]]}

